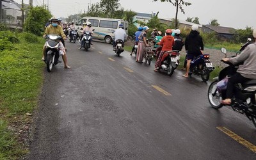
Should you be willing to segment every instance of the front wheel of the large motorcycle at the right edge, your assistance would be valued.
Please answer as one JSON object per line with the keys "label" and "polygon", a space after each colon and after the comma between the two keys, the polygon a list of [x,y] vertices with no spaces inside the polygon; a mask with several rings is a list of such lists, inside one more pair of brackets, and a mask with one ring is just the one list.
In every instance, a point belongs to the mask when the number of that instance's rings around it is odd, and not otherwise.
{"label": "front wheel of the large motorcycle at the right edge", "polygon": [[214,109],[222,108],[223,104],[221,104],[221,94],[217,90],[218,81],[214,81],[210,84],[208,89],[208,100],[211,104],[211,107]]}

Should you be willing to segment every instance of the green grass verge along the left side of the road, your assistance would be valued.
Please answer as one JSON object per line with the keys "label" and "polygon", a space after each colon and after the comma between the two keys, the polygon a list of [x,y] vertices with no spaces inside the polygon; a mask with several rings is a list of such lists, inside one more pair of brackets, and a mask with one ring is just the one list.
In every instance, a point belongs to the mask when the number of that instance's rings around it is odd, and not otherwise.
{"label": "green grass verge along the left side of the road", "polygon": [[7,126],[13,122],[26,124],[26,113],[36,108],[43,82],[44,63],[40,58],[44,39],[31,44],[28,41],[35,37],[26,34],[17,35],[19,43],[0,50],[0,159],[17,159],[27,152]]}

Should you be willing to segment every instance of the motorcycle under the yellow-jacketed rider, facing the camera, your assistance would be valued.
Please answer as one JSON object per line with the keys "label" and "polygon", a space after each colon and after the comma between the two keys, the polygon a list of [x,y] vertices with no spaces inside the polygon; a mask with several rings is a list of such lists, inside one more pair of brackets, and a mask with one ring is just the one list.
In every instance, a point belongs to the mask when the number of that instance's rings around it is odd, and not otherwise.
{"label": "motorcycle under the yellow-jacketed rider, facing the camera", "polygon": [[46,35],[45,38],[47,39],[46,46],[45,46],[45,63],[48,72],[52,71],[52,67],[61,63],[59,61],[60,57],[60,39],[61,36],[57,35]]}

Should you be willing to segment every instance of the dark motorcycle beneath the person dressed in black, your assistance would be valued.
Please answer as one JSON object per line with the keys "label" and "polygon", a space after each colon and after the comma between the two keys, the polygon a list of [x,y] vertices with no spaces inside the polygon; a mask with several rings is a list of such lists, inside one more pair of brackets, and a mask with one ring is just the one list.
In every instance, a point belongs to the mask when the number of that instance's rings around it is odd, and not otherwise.
{"label": "dark motorcycle beneath the person dressed in black", "polygon": [[210,78],[210,72],[215,69],[215,67],[212,67],[209,57],[209,54],[201,54],[193,59],[190,63],[188,75],[191,76],[192,74],[195,74],[201,76],[202,80],[207,82]]}

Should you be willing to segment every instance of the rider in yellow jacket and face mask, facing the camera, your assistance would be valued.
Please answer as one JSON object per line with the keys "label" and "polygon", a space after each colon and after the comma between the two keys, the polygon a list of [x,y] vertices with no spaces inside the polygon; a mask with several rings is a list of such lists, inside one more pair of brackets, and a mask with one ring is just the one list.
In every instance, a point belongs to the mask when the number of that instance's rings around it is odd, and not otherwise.
{"label": "rider in yellow jacket and face mask, facing the camera", "polygon": [[[45,35],[50,35],[50,34],[59,35],[59,36],[61,36],[61,38],[63,38],[63,40],[67,40],[67,37],[63,33],[63,29],[61,28],[61,26],[58,25],[58,19],[56,19],[54,17],[51,18],[51,24],[45,29]],[[44,37],[45,37],[45,35],[44,35]],[[45,42],[45,45],[46,45],[46,42]],[[45,60],[45,45],[43,47],[42,61]],[[60,54],[64,61],[64,68],[70,68],[67,65],[67,55],[66,55],[65,47],[63,46],[62,42],[60,42]]]}

